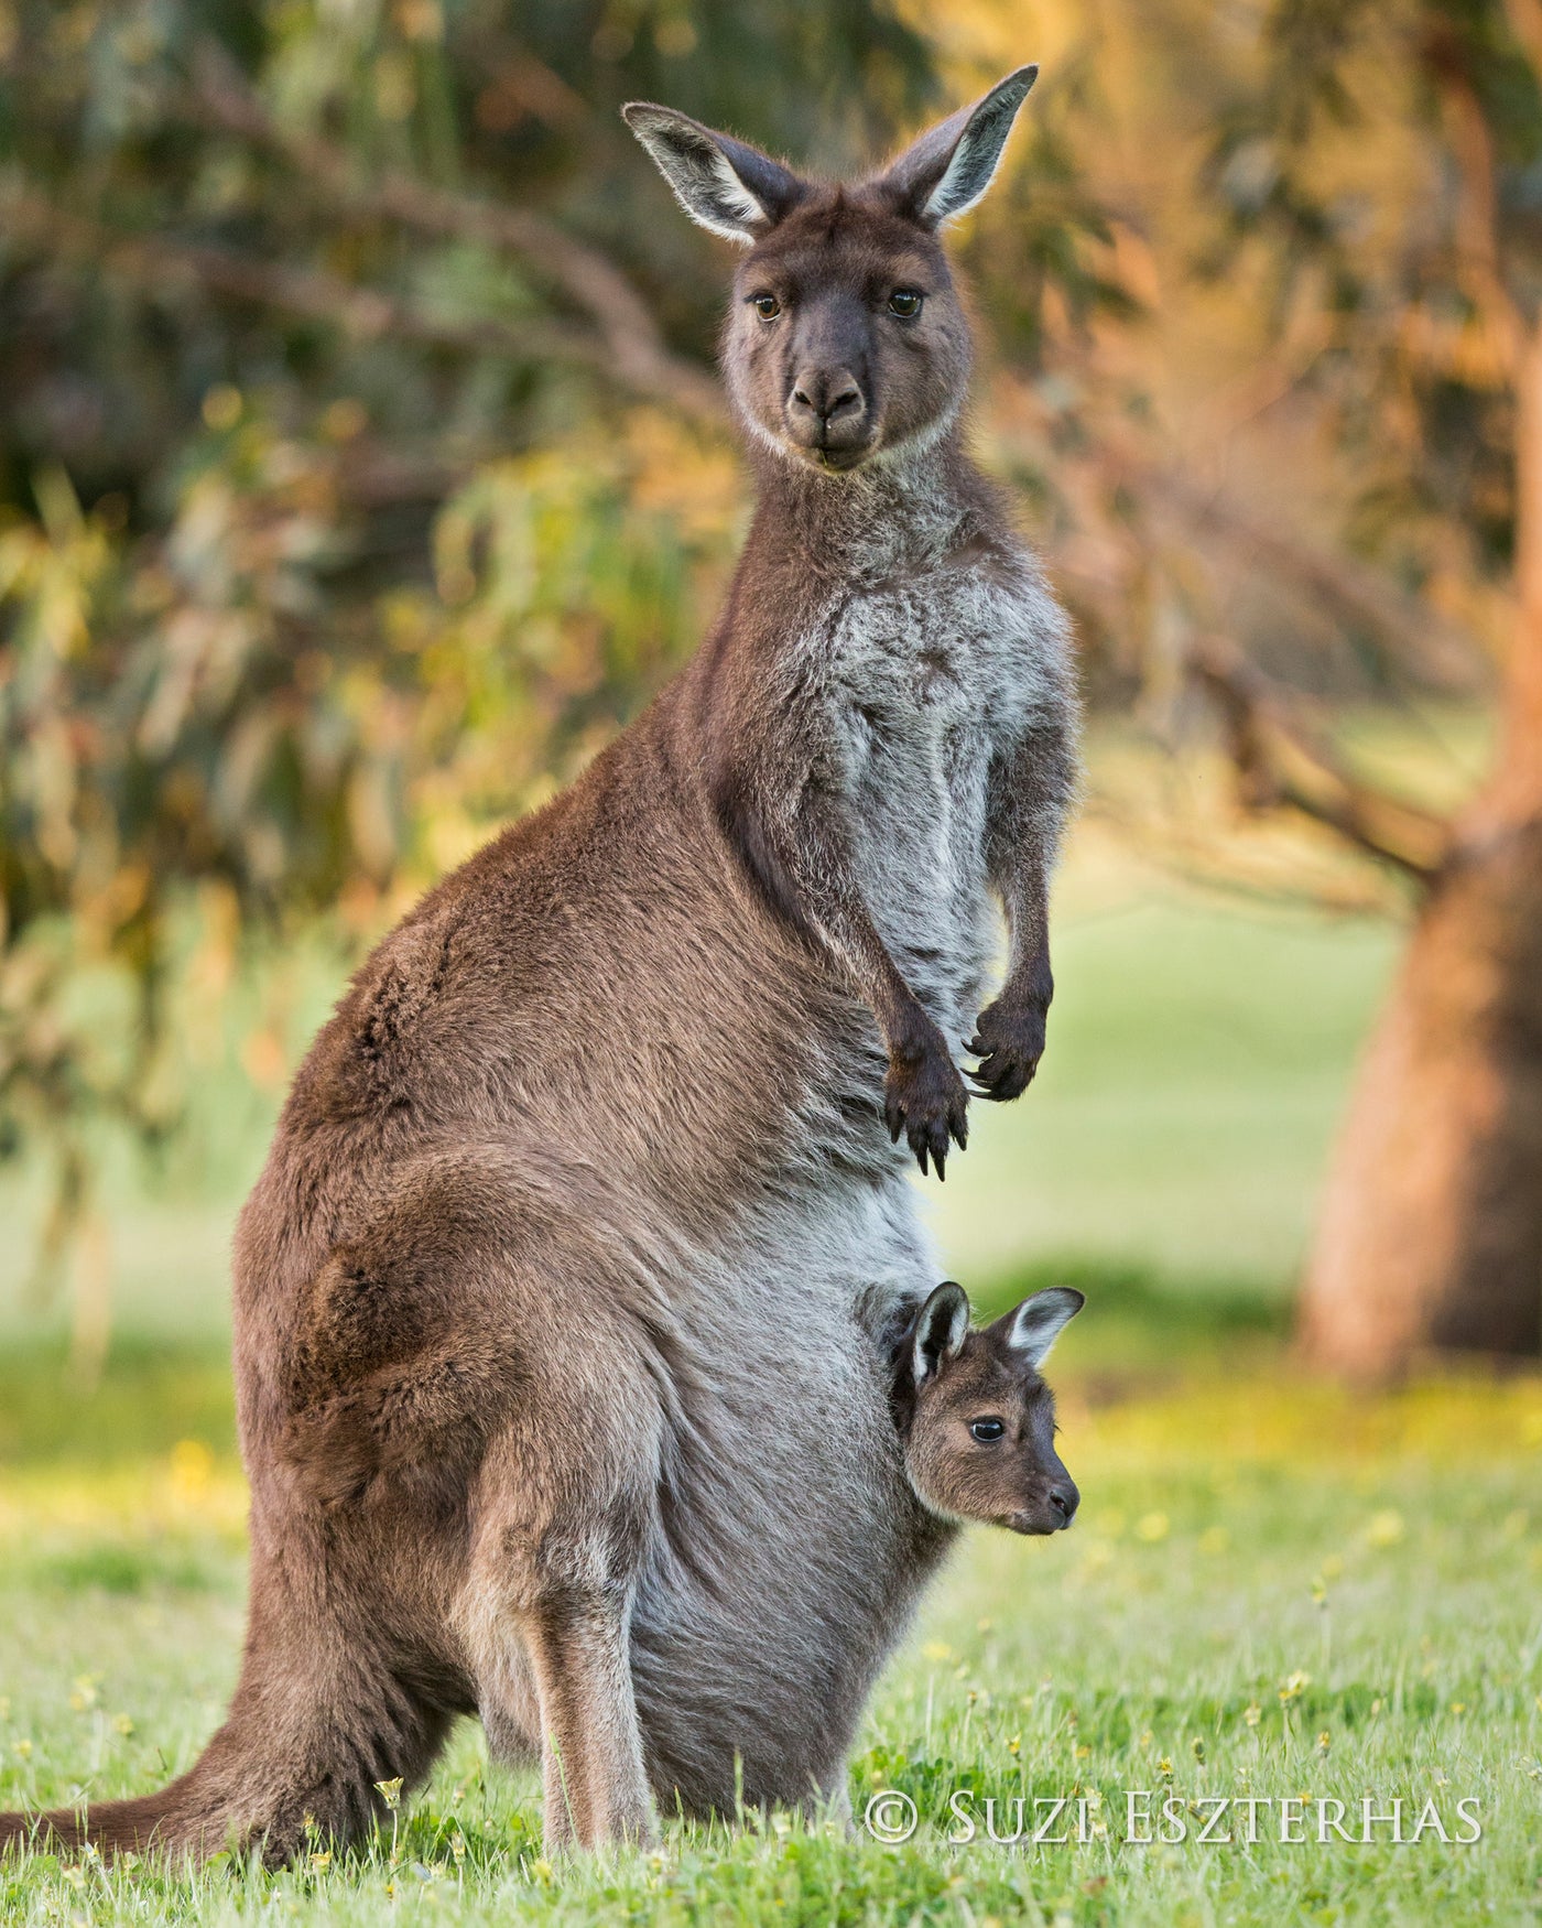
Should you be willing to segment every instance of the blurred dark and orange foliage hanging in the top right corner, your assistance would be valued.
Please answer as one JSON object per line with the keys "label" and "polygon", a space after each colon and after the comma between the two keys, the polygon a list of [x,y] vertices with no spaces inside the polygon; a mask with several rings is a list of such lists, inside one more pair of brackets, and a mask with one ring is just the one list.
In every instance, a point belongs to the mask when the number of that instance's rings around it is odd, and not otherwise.
{"label": "blurred dark and orange foliage hanging in the top right corner", "polygon": [[1542,299],[1542,8],[1274,0],[1261,52],[1210,156],[1214,260],[1263,247],[1280,332],[1311,337],[1303,378],[1367,463],[1353,546],[1409,584],[1505,582],[1507,335]]}

